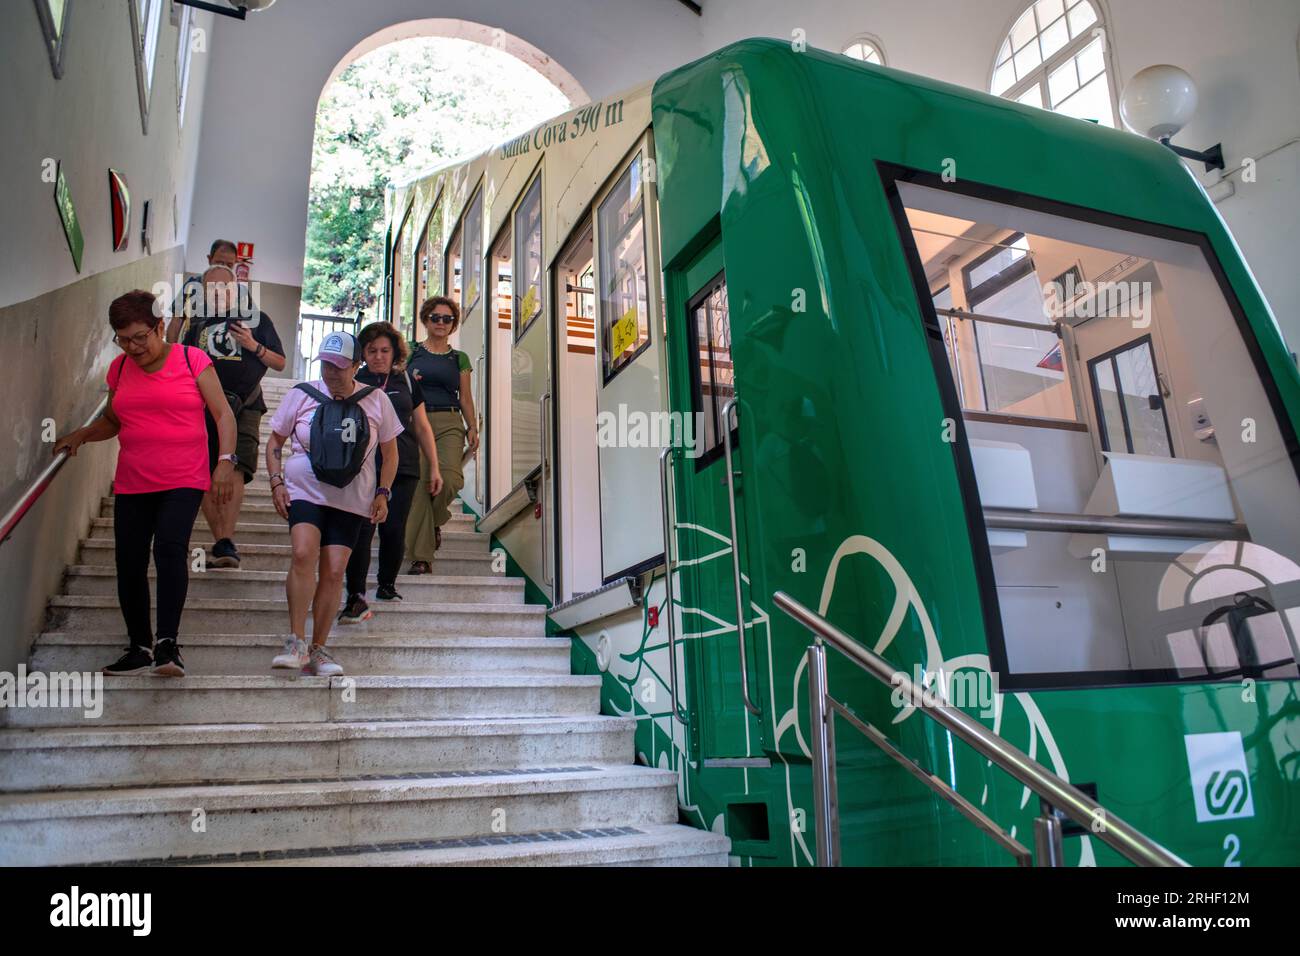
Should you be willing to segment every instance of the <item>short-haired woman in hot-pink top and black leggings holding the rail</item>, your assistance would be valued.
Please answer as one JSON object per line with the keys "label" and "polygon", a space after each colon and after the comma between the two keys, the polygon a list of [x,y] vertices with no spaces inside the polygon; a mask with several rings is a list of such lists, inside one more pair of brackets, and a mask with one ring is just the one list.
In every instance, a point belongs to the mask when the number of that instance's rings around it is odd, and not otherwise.
{"label": "short-haired woman in hot-pink top and black leggings holding the rail", "polygon": [[[185,676],[177,646],[190,587],[190,532],[209,488],[233,490],[235,421],[212,360],[169,345],[152,293],[136,289],[108,307],[117,346],[108,367],[108,405],[86,428],[58,438],[55,454],[117,436],[113,540],[117,598],[130,646],[104,674]],[[207,407],[217,421],[221,455],[208,473]],[[150,628],[150,550],[157,570],[157,640]]]}

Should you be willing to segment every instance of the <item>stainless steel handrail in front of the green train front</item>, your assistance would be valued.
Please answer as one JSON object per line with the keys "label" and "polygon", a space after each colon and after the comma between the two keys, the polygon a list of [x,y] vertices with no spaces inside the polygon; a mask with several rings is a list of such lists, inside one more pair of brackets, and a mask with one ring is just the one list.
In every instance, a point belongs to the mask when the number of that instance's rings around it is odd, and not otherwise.
{"label": "stainless steel handrail in front of the green train front", "polygon": [[[993,821],[975,809],[946,783],[926,774],[907,757],[893,748],[879,731],[864,724],[842,704],[829,695],[826,680],[826,644],[831,644],[841,654],[889,688],[897,688],[902,698],[916,706],[922,714],[952,731],[970,744],[980,756],[996,763],[1026,787],[1039,795],[1043,814],[1034,821],[1035,857],[1039,866],[1061,866],[1061,816],[1087,827],[1092,835],[1114,848],[1124,858],[1139,866],[1187,866],[1184,861],[1170,853],[1145,834],[1134,829],[1117,816],[1102,808],[1078,787],[1071,786],[1037,761],[975,718],[950,706],[930,691],[918,688],[911,679],[879,654],[858,644],[844,631],[783,591],[772,596],[772,602],[814,635],[809,646],[809,698],[812,708],[812,786],[816,801],[816,856],[819,866],[836,866],[840,861],[838,847],[838,806],[835,788],[835,743],[833,714],[838,713],[872,743],[885,749],[931,790],[952,803],[967,819],[985,830],[998,843],[1026,862],[1023,847],[997,827]],[[974,812],[974,813],[972,813]],[[989,830],[992,827],[996,830]]]}

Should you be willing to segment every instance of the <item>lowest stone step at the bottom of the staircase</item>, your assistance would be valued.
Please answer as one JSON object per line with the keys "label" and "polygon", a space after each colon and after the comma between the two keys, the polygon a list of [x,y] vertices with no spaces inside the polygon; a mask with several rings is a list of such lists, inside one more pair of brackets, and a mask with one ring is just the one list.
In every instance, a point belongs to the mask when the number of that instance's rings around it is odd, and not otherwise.
{"label": "lowest stone step at the bottom of the staircase", "polygon": [[[677,823],[246,853],[209,866],[728,866],[731,840]],[[198,861],[196,861],[198,862]]]}

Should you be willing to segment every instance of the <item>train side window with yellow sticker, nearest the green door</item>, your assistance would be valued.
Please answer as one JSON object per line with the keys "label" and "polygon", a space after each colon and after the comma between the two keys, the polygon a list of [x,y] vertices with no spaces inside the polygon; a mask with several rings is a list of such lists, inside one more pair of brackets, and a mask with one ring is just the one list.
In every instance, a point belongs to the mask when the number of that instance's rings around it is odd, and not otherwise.
{"label": "train side window with yellow sticker, nearest the green door", "polygon": [[601,354],[604,381],[650,345],[641,153],[601,203]]}

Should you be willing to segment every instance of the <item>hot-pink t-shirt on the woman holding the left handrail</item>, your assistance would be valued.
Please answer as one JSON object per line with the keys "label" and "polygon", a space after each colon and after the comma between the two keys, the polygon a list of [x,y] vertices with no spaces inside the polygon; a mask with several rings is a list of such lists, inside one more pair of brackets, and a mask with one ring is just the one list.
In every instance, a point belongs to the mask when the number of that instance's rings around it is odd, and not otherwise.
{"label": "hot-pink t-shirt on the woman holding the left handrail", "polygon": [[[185,362],[185,352],[190,363]],[[116,494],[144,494],[173,488],[212,486],[208,425],[199,375],[212,359],[198,349],[173,345],[162,368],[144,372],[122,355],[108,367],[117,433]]]}

